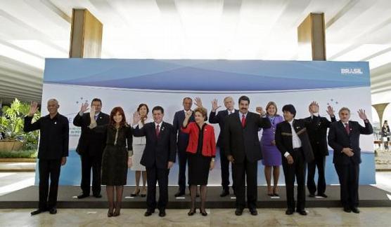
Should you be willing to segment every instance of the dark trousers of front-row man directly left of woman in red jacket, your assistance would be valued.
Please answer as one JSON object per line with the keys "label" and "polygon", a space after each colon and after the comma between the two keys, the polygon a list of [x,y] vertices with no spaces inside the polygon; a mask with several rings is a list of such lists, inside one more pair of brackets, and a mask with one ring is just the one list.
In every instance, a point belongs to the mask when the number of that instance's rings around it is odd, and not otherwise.
{"label": "dark trousers of front-row man directly left of woman in red jacket", "polygon": [[[168,202],[168,174],[167,169],[146,167],[147,172],[147,207],[148,209],[165,209]],[[159,201],[156,204],[156,183],[159,183]]]}

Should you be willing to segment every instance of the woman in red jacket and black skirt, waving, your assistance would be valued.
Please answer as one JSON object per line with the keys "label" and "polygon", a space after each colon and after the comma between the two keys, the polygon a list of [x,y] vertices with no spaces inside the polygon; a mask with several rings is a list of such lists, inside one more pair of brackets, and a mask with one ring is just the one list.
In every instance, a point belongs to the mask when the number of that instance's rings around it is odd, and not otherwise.
{"label": "woman in red jacket and black skirt, waving", "polygon": [[216,155],[216,142],[214,139],[214,128],[205,123],[207,110],[197,108],[194,110],[196,122],[188,123],[191,111],[186,112],[186,118],[182,125],[182,132],[189,134],[188,146],[188,184],[190,185],[191,209],[188,215],[196,213],[196,191],[200,185],[201,207],[200,213],[207,216],[205,211],[205,199],[207,192],[207,177],[209,171],[214,167],[214,156]]}

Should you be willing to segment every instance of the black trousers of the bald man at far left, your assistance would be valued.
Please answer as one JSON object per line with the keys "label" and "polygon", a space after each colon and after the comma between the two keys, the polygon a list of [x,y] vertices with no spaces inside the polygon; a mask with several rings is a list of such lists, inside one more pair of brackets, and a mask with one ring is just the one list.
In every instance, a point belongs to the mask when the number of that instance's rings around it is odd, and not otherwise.
{"label": "black trousers of the bald man at far left", "polygon": [[[39,170],[39,209],[56,207],[58,179],[60,179],[61,159],[42,159],[38,161]],[[49,190],[50,177],[50,190]],[[48,200],[49,194],[49,200]]]}

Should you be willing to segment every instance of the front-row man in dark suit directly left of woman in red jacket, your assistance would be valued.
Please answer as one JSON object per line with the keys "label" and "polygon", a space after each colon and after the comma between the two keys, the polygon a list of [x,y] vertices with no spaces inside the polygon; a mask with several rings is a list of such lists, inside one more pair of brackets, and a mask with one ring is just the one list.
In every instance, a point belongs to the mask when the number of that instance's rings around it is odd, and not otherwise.
{"label": "front-row man in dark suit directly left of woman in red jacket", "polygon": [[[159,216],[165,216],[165,208],[168,202],[168,174],[169,169],[174,165],[176,156],[175,131],[171,124],[163,121],[165,114],[161,106],[152,109],[153,121],[146,123],[139,128],[139,113],[133,117],[133,135],[135,137],[146,137],[146,148],[141,157],[141,165],[146,167],[147,172],[147,206],[144,216],[150,216],[159,209]],[[159,183],[159,201],[156,204],[156,182]]]}

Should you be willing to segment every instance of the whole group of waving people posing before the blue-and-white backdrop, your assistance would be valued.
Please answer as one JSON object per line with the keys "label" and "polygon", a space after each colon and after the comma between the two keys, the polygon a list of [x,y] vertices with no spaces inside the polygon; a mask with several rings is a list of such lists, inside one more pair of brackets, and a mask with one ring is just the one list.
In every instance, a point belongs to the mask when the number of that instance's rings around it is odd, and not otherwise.
{"label": "whole group of waving people posing before the blue-and-white backdrop", "polygon": [[[191,110],[193,100],[183,99],[184,109],[177,111],[173,124],[163,121],[162,106],[154,106],[152,118],[148,118],[148,105],[139,104],[133,114],[133,122],[128,123],[124,110],[117,106],[110,115],[101,112],[101,99],[95,98],[89,104],[82,104],[73,124],[82,128],[77,145],[82,163],[82,193],[77,197],[90,195],[91,170],[92,194],[101,198],[101,185],[106,186],[108,216],[120,215],[123,188],[127,184],[127,170],[136,174],[136,187],[132,196],[146,196],[148,209],[145,216],[159,210],[165,216],[168,202],[169,170],[177,155],[179,160],[179,191],[176,197],[186,192],[186,165],[188,167],[187,186],[191,195],[191,209],[188,215],[196,213],[196,198],[200,196],[200,214],[207,216],[205,201],[207,180],[214,168],[217,147],[222,167],[222,193],[229,191],[229,163],[232,168],[233,194],[236,195],[236,215],[243,214],[248,207],[250,214],[257,215],[257,168],[262,159],[267,179],[267,194],[278,196],[279,167],[283,165],[286,181],[286,214],[305,211],[305,173],[308,166],[307,188],[309,196],[326,198],[325,162],[329,144],[333,150],[333,163],[340,180],[340,197],[345,212],[359,212],[358,180],[360,148],[359,135],[373,133],[365,111],[359,110],[359,117],[365,127],[356,121],[349,121],[350,110],[339,111],[340,121],[336,121],[334,111],[328,106],[331,121],[320,116],[319,104],[309,104],[308,118],[295,119],[296,110],[292,104],[283,106],[283,116],[278,115],[275,102],[269,102],[266,109],[256,107],[256,113],[248,111],[250,99],[241,96],[238,109],[234,108],[232,97],[224,98],[226,109],[217,99],[212,101],[209,119],[207,110],[200,98],[195,99],[196,109]],[[37,103],[32,102],[30,113],[25,117],[24,130],[40,130],[39,141],[39,209],[31,214],[49,211],[56,214],[56,200],[60,166],[65,165],[68,156],[69,125],[68,118],[58,114],[58,101],[49,99],[47,116],[32,123],[37,112]],[[214,127],[219,124],[220,134],[217,143]],[[327,129],[328,141],[326,138]],[[259,141],[258,132],[262,130]],[[318,182],[314,174],[318,169]],[[271,186],[271,175],[274,184]],[[51,178],[50,192],[49,177]],[[142,178],[142,187],[140,180]],[[297,181],[297,202],[294,198],[294,183]],[[148,183],[148,186],[146,186]],[[159,185],[159,199],[156,201],[156,184]],[[247,187],[246,187],[247,185]],[[198,186],[200,186],[198,192]],[[246,192],[247,188],[247,192]],[[48,201],[49,193],[49,201]],[[247,202],[245,200],[247,194]]]}

